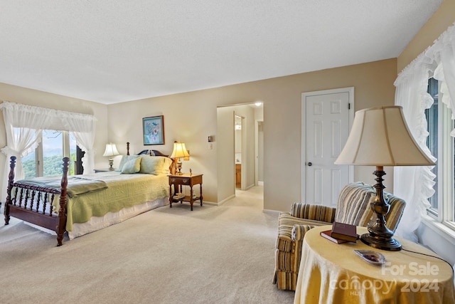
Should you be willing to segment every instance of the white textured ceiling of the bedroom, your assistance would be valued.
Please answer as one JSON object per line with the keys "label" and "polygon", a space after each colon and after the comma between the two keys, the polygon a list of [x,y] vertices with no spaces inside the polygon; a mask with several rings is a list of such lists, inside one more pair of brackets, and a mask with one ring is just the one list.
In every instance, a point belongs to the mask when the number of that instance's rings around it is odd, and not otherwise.
{"label": "white textured ceiling of the bedroom", "polygon": [[0,83],[119,103],[395,58],[442,0],[0,0]]}

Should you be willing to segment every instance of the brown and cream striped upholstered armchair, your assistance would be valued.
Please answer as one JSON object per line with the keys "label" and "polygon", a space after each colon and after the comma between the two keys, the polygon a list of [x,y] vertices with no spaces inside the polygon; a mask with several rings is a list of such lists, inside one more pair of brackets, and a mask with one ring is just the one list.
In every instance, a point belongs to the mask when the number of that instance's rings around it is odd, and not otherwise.
{"label": "brown and cream striped upholstered armchair", "polygon": [[[330,225],[333,221],[356,226],[367,226],[370,220],[375,221],[375,217],[372,219],[375,214],[370,206],[375,195],[373,186],[355,182],[341,190],[336,208],[293,203],[290,213],[279,214],[273,283],[277,284],[279,289],[296,289],[301,248],[305,233],[309,229]],[[395,231],[405,209],[405,201],[387,192],[384,192],[384,197],[390,204],[390,211],[385,216],[387,228]]]}

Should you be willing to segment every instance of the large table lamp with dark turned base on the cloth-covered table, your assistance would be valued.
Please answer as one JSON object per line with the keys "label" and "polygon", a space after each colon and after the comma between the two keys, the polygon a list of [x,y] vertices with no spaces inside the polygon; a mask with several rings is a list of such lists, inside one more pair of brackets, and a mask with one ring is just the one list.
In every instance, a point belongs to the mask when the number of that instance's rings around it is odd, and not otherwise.
{"label": "large table lamp with dark turned base on the cloth-covered table", "polygon": [[352,130],[346,145],[335,164],[355,166],[376,166],[376,196],[371,208],[377,218],[368,224],[368,233],[360,240],[374,248],[400,251],[400,241],[393,239],[393,232],[385,226],[385,215],[390,205],[382,190],[384,166],[432,166],[434,162],[427,157],[415,142],[407,127],[400,106],[368,108],[355,112]]}

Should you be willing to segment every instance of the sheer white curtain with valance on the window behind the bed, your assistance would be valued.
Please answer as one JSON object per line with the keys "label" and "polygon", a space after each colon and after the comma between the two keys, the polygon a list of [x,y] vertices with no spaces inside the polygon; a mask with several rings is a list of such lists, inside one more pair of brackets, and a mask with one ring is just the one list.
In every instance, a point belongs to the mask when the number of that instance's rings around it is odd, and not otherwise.
{"label": "sheer white curtain with valance on the window behind the bed", "polygon": [[93,145],[96,118],[93,115],[39,108],[7,101],[0,104],[0,110],[3,111],[6,130],[6,147],[1,149],[1,152],[6,155],[4,182],[1,184],[1,199],[3,201],[6,199],[10,157],[17,157],[15,179],[23,179],[21,157],[26,156],[38,147],[42,130],[73,132],[76,144],[85,150],[85,157],[82,159],[84,171],[92,172],[94,169]]}

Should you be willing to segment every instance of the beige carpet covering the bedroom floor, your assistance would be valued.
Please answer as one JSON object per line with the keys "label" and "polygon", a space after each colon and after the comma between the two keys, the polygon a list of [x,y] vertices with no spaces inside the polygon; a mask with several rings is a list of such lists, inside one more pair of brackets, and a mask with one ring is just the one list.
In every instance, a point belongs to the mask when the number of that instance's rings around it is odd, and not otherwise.
{"label": "beige carpet covering the bedroom floor", "polygon": [[222,206],[173,204],[65,239],[0,226],[0,303],[292,303],[272,284],[277,216],[262,187]]}

